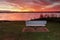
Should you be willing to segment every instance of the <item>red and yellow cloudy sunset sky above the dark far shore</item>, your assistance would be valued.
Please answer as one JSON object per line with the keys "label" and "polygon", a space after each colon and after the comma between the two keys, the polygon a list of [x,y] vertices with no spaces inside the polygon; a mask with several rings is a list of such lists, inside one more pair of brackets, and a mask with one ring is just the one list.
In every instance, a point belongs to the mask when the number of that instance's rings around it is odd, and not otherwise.
{"label": "red and yellow cloudy sunset sky above the dark far shore", "polygon": [[0,0],[0,10],[60,11],[60,0]]}

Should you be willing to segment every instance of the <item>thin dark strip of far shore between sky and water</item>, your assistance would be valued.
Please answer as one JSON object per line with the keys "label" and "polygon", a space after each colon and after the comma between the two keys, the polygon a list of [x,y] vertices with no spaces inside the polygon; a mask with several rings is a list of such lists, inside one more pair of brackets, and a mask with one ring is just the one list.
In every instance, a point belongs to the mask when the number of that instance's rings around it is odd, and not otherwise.
{"label": "thin dark strip of far shore between sky and water", "polygon": [[18,11],[0,11],[0,13],[60,13],[60,11],[29,11],[29,12],[18,12]]}

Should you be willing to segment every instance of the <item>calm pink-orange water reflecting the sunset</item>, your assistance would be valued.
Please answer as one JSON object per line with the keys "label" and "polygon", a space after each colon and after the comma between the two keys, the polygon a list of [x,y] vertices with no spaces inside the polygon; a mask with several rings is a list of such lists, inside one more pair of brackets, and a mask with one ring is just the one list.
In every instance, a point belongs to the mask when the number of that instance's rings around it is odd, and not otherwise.
{"label": "calm pink-orange water reflecting the sunset", "polygon": [[0,13],[0,20],[30,20],[39,18],[41,14],[44,17],[46,15],[60,17],[60,13]]}

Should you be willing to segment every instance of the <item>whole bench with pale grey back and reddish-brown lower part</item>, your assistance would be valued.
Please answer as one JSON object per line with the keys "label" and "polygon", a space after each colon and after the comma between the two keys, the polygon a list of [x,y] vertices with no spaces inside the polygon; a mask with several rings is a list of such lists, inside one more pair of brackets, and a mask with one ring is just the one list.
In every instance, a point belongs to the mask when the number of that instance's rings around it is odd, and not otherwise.
{"label": "whole bench with pale grey back and reddish-brown lower part", "polygon": [[26,21],[26,27],[23,32],[47,32],[48,29],[45,27],[47,21]]}

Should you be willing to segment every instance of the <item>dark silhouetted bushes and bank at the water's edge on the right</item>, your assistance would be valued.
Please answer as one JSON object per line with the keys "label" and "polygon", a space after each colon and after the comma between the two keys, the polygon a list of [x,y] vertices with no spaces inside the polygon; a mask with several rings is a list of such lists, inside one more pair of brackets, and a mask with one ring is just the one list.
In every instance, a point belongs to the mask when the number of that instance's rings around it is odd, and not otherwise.
{"label": "dark silhouetted bushes and bank at the water's edge on the right", "polygon": [[37,18],[37,19],[32,19],[33,20],[47,20],[47,21],[50,21],[50,22],[59,22],[60,23],[60,17],[54,17],[54,15],[51,15],[51,17],[49,16],[43,16],[43,15],[40,15],[40,18]]}

